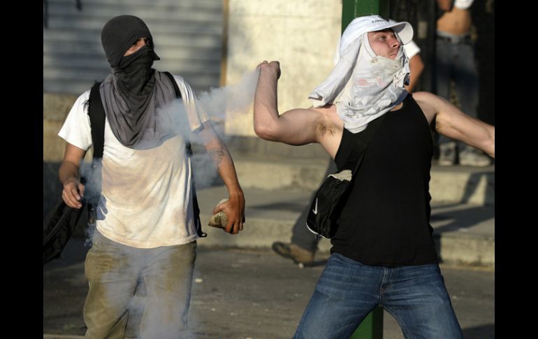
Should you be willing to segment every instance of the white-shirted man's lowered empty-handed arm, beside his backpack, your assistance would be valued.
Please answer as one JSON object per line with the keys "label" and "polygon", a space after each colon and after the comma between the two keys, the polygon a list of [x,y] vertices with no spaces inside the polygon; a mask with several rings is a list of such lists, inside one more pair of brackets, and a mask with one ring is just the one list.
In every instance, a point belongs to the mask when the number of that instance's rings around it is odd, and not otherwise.
{"label": "white-shirted man's lowered empty-handed arm, beside his backpack", "polygon": [[72,208],[82,207],[80,200],[84,196],[85,187],[80,183],[79,170],[85,154],[85,150],[67,143],[64,159],[61,161],[58,171],[59,180],[64,185],[61,198],[64,199],[66,205]]}

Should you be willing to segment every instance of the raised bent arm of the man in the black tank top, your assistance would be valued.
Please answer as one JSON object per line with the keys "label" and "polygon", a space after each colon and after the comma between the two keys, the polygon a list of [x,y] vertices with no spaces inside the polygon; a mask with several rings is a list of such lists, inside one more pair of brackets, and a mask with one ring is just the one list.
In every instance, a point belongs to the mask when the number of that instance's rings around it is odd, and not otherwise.
{"label": "raised bent arm of the man in the black tank top", "polygon": [[289,145],[318,142],[316,126],[321,120],[319,110],[297,108],[279,115],[277,81],[279,62],[263,62],[254,96],[254,131],[262,139]]}

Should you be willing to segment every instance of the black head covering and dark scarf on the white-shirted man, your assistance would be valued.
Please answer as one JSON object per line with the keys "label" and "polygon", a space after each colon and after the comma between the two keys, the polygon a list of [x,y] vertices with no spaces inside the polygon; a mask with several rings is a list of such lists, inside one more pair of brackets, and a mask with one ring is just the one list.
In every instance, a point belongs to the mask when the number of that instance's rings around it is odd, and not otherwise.
{"label": "black head covering and dark scarf on the white-shirted man", "polygon": [[[147,45],[124,57],[139,38],[147,38]],[[160,58],[153,51],[150,29],[138,17],[119,15],[103,27],[101,43],[112,67],[100,87],[112,133],[135,150],[157,147],[173,135],[158,118],[158,108],[173,101],[175,92],[166,75],[152,68]]]}

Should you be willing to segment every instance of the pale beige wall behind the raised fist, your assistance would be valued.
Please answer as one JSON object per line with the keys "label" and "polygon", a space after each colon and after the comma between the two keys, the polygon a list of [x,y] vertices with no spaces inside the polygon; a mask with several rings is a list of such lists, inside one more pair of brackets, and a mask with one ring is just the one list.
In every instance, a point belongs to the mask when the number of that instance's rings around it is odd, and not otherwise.
{"label": "pale beige wall behind the raised fist", "polygon": [[[263,60],[278,60],[279,112],[311,106],[308,94],[333,68],[342,0],[225,0],[225,6],[226,2],[225,83],[238,82]],[[226,120],[226,134],[255,136],[252,109],[233,115]]]}

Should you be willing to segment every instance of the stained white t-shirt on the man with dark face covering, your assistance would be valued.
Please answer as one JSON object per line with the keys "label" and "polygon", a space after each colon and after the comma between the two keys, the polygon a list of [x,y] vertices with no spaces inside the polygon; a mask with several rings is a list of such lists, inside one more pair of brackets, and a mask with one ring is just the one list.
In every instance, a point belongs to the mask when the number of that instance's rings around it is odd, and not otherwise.
{"label": "stained white t-shirt on the man with dark face covering", "polygon": [[[181,245],[196,240],[191,192],[191,160],[186,156],[185,137],[209,120],[196,103],[191,87],[174,75],[182,105],[174,110],[185,131],[150,150],[125,147],[112,134],[105,120],[105,145],[101,198],[96,228],[111,240],[138,248]],[[89,150],[92,132],[81,94],[58,135],[68,143]]]}

